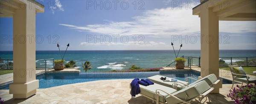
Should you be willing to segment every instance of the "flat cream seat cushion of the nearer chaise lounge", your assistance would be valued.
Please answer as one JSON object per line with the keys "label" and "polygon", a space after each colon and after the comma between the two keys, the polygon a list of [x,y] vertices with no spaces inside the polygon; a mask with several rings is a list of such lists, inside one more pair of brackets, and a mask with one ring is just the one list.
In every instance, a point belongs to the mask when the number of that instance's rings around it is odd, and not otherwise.
{"label": "flat cream seat cushion of the nearer chaise lounge", "polygon": [[[174,93],[177,90],[170,88],[170,87],[166,87],[160,84],[153,84],[153,85],[149,85],[149,86],[140,86],[140,94],[143,94],[145,96],[148,96],[150,98],[154,98],[155,100],[157,100],[157,94],[156,94],[156,90],[157,89],[161,89],[166,91],[167,93]],[[160,102],[166,102],[165,98],[166,96],[168,96],[166,93],[163,93],[162,91],[158,90],[158,92],[160,92],[159,95],[159,101]]]}

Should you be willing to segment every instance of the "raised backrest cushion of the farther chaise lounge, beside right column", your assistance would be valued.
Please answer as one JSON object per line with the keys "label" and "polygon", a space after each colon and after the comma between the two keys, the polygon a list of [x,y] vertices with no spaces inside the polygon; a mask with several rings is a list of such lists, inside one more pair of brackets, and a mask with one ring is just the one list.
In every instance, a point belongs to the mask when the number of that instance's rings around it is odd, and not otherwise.
{"label": "raised backrest cushion of the farther chaise lounge, beside right column", "polygon": [[208,76],[205,76],[202,79],[197,80],[196,82],[193,82],[192,84],[189,84],[189,86],[193,85],[193,84],[196,84],[198,82],[201,82],[201,81],[206,81],[208,85],[212,85],[217,80],[218,80],[218,78],[217,78],[217,76],[215,74],[210,74]]}

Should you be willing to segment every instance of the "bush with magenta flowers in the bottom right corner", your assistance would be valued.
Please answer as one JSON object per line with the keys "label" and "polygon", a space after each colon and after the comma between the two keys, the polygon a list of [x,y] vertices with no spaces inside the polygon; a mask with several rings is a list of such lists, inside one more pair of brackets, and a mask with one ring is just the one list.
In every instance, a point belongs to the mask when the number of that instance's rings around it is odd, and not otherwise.
{"label": "bush with magenta flowers in the bottom right corner", "polygon": [[235,100],[236,104],[254,104],[256,102],[256,83],[248,86],[236,85],[236,87],[230,89],[230,93],[227,95]]}

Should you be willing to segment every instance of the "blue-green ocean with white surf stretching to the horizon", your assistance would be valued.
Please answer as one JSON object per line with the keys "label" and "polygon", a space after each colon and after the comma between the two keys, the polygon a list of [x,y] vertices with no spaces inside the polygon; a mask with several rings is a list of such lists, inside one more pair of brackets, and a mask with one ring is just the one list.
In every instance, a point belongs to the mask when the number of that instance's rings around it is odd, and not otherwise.
{"label": "blue-green ocean with white surf stretching to the horizon", "polygon": [[[61,51],[64,55],[65,51]],[[176,54],[178,50],[175,50]],[[200,50],[180,50],[178,56],[200,56]],[[256,50],[220,50],[220,57],[256,57]],[[12,59],[12,51],[0,51],[2,59]],[[59,51],[36,51],[36,67],[44,67],[44,59],[61,59]],[[173,62],[175,53],[173,50],[139,50],[139,51],[67,51],[64,60],[76,62],[82,72],[82,62],[90,61],[91,70],[127,70],[131,65],[141,68],[165,67]],[[222,58],[231,62],[230,58]],[[241,61],[245,58],[233,58],[232,62]],[[6,62],[6,60],[3,60]],[[12,62],[12,60],[9,60]],[[193,64],[198,64],[198,59],[193,59]],[[47,60],[47,67],[52,67],[52,59]]]}

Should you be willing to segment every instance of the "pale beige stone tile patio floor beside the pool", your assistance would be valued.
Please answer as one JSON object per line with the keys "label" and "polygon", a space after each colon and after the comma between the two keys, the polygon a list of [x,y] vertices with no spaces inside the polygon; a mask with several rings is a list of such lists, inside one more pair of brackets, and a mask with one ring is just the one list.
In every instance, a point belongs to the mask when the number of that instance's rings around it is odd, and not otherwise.
{"label": "pale beige stone tile patio floor beside the pool", "polygon": [[[9,90],[0,90],[0,97],[4,104],[155,104],[140,94],[131,99],[131,81],[132,79],[102,80],[37,89],[37,93],[27,99],[14,99]],[[207,100],[205,104],[233,104],[234,101],[227,98],[231,86],[232,84],[223,84],[220,93],[209,94],[211,102]]]}

